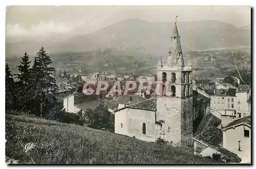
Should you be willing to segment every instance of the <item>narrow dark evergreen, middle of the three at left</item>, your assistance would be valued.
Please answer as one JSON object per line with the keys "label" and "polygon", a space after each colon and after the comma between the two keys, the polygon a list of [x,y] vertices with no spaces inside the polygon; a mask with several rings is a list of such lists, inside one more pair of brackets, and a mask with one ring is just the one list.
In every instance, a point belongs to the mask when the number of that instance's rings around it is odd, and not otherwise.
{"label": "narrow dark evergreen, middle of the three at left", "polygon": [[[19,89],[19,92],[17,92],[19,98],[19,105],[23,107],[23,110],[29,109],[29,104],[31,100],[31,69],[30,69],[30,63],[29,61],[29,55],[27,55],[27,52],[25,52],[24,56],[22,57],[22,61],[17,66],[20,74],[18,75],[19,82],[17,83],[17,87]],[[20,108],[21,108],[20,107]]]}

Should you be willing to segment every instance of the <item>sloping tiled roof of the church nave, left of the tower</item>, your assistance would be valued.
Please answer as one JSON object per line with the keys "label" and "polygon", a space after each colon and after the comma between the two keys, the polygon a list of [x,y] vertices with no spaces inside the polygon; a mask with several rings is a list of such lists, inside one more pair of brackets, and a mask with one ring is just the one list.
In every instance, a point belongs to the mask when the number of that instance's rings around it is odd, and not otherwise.
{"label": "sloping tiled roof of the church nave, left of the tower", "polygon": [[127,108],[156,111],[156,109],[157,109],[157,99],[156,98],[147,99],[145,101],[130,105]]}

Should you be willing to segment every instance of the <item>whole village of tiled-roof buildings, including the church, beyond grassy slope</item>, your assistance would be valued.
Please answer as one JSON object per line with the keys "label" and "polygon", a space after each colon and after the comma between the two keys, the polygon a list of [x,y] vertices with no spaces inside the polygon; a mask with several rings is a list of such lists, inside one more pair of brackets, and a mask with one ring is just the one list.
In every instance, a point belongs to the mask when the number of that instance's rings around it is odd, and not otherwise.
{"label": "whole village of tiled-roof buildings, including the church, beyond grassy slope", "polygon": [[161,138],[193,148],[195,155],[217,153],[227,162],[250,162],[251,86],[231,76],[196,84],[195,67],[184,64],[180,38],[175,22],[168,59],[163,64],[159,58],[157,77],[98,72],[73,74],[78,80],[72,81],[62,75],[59,102],[75,114],[104,104],[115,116],[116,134],[150,142]]}

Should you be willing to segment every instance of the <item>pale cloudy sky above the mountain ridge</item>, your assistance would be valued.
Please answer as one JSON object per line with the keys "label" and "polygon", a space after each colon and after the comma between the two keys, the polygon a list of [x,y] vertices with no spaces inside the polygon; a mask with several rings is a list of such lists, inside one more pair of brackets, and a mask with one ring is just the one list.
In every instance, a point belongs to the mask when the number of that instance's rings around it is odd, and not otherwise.
{"label": "pale cloudy sky above the mountain ridge", "polygon": [[6,38],[47,37],[81,26],[87,34],[124,19],[174,21],[176,15],[179,21],[220,20],[243,27],[250,26],[250,12],[250,6],[9,6]]}

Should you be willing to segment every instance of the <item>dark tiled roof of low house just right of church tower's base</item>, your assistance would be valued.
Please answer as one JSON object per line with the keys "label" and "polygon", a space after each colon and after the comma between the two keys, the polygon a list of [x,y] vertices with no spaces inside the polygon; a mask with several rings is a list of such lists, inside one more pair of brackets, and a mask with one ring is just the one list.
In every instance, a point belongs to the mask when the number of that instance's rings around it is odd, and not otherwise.
{"label": "dark tiled roof of low house just right of church tower's base", "polygon": [[237,154],[234,154],[221,146],[223,143],[223,131],[221,129],[211,126],[194,136],[194,138],[206,143],[211,149],[220,152],[222,154],[222,158],[225,160],[237,163],[241,161],[241,158],[239,158]]}

